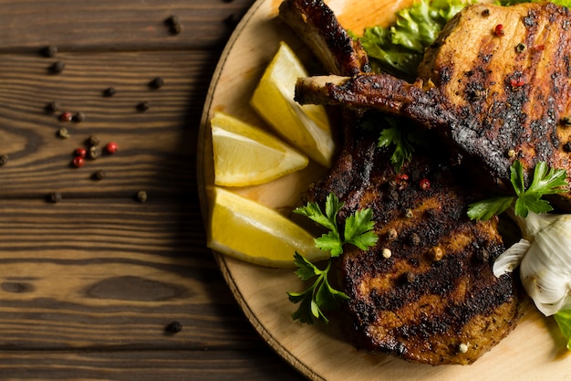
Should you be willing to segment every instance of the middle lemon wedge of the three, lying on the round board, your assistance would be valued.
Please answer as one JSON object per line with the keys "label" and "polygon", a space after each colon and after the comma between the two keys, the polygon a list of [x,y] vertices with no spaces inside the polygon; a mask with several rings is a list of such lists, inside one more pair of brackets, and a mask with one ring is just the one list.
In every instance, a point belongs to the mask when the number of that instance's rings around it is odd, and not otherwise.
{"label": "middle lemon wedge of the three, lying on the round board", "polygon": [[309,163],[274,135],[222,112],[214,114],[211,128],[215,185],[264,184]]}

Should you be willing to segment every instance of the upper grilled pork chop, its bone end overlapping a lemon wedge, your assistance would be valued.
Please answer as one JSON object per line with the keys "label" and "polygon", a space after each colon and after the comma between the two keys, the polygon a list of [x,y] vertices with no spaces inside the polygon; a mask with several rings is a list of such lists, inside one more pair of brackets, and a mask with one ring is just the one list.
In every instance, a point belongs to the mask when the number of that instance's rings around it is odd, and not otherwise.
{"label": "upper grilled pork chop, its bone end overlapping a lemon wedge", "polygon": [[[510,188],[515,159],[571,175],[571,16],[552,3],[471,5],[428,48],[418,79],[388,74],[300,79],[296,101],[375,108],[441,132]],[[564,193],[566,209],[571,195]]]}

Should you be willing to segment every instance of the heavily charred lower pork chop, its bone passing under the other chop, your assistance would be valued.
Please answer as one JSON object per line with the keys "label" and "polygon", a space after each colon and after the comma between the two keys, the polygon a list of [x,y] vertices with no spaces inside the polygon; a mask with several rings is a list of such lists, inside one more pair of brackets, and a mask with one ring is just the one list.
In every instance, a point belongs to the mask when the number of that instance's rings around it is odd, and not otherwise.
{"label": "heavily charred lower pork chop, its bone passing under the other chop", "polygon": [[[369,70],[367,57],[349,43],[323,1],[285,0],[280,16],[331,72],[352,76]],[[337,163],[307,199],[322,203],[336,194],[345,203],[340,219],[373,209],[377,246],[349,247],[337,263],[349,296],[350,338],[358,347],[410,361],[472,363],[519,317],[514,280],[492,273],[493,260],[504,251],[497,220],[474,223],[466,217],[467,203],[482,196],[462,186],[447,157],[434,154],[445,150],[417,152],[396,174],[390,153],[377,147],[379,132],[358,128],[360,114],[344,115]]]}

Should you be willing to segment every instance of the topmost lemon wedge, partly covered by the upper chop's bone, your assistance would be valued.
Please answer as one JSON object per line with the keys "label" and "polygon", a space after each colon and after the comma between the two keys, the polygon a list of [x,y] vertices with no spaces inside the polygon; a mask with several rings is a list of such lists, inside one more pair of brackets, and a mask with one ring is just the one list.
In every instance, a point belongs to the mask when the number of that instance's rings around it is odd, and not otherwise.
{"label": "topmost lemon wedge, partly covered by the upper chop's bone", "polygon": [[323,106],[301,106],[294,101],[299,77],[307,77],[305,67],[294,51],[281,42],[250,103],[287,143],[318,164],[330,167],[336,147],[327,112]]}

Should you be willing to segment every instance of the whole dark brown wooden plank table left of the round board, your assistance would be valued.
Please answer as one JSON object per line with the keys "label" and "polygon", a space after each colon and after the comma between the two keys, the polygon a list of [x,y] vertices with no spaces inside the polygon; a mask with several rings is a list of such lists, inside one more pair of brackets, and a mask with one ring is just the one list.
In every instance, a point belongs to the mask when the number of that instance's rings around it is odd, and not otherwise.
{"label": "whole dark brown wooden plank table left of the round board", "polygon": [[[0,0],[0,378],[303,379],[234,301],[198,200],[203,102],[253,3]],[[119,151],[74,167],[92,135]]]}

